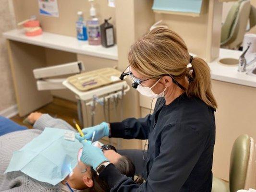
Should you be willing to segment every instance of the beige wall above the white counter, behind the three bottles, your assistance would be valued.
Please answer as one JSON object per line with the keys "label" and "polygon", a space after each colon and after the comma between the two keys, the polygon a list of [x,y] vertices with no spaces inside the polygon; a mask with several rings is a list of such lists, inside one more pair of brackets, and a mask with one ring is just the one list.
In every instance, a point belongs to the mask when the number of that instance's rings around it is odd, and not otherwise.
{"label": "beige wall above the white counter, behind the three bottles", "polygon": [[[13,0],[17,22],[36,15],[44,31],[66,36],[76,36],[75,22],[77,12],[83,11],[84,18],[89,17],[90,3],[88,0],[58,0],[59,17],[39,15],[37,0]],[[115,8],[108,7],[107,0],[95,0],[95,8],[100,23],[105,18],[112,17],[110,23],[115,26]]]}

